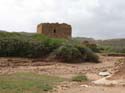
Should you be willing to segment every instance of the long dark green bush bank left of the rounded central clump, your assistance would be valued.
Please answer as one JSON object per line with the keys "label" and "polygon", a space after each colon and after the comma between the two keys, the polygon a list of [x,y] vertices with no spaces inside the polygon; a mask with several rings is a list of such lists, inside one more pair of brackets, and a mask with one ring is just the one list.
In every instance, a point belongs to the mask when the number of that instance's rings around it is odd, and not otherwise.
{"label": "long dark green bush bank left of the rounded central clump", "polygon": [[64,42],[39,34],[0,32],[0,36],[1,57],[45,57]]}

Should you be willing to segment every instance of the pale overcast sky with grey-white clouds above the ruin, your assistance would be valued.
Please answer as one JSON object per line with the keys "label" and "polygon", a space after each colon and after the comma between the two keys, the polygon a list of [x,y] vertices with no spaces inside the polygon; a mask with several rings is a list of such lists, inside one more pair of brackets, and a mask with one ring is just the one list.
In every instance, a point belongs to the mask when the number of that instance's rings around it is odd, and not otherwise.
{"label": "pale overcast sky with grey-white clouds above the ruin", "polygon": [[0,29],[36,32],[42,22],[69,23],[73,36],[125,37],[125,0],[0,0]]}

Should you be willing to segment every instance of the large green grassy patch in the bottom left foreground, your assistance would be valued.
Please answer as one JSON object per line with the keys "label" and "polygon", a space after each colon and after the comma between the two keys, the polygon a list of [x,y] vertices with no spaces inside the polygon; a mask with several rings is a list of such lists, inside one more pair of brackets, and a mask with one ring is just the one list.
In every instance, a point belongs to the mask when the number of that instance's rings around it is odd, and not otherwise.
{"label": "large green grassy patch in the bottom left foreground", "polygon": [[63,79],[34,73],[0,76],[0,93],[46,93]]}

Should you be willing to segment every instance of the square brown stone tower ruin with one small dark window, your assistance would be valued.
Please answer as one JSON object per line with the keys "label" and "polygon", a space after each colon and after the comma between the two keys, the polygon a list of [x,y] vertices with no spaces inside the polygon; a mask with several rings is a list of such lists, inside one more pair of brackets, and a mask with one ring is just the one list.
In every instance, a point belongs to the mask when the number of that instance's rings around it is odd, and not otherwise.
{"label": "square brown stone tower ruin with one small dark window", "polygon": [[37,26],[37,33],[50,38],[70,39],[72,37],[72,27],[65,23],[41,23]]}

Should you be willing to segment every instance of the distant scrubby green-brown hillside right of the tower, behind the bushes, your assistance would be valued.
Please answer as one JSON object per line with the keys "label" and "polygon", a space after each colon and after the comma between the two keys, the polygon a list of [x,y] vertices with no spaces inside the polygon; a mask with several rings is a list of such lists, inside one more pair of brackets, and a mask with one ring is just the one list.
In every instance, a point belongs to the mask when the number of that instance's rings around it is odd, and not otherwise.
{"label": "distant scrubby green-brown hillside right of the tower, behind the bushes", "polygon": [[125,39],[94,40],[92,38],[73,38],[75,42],[80,42],[92,51],[107,54],[124,54]]}

